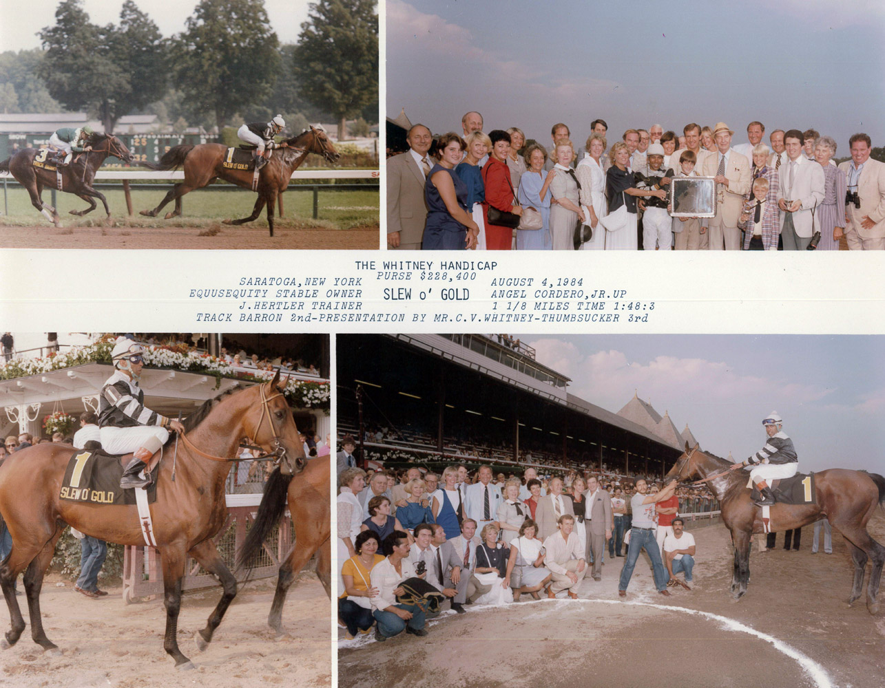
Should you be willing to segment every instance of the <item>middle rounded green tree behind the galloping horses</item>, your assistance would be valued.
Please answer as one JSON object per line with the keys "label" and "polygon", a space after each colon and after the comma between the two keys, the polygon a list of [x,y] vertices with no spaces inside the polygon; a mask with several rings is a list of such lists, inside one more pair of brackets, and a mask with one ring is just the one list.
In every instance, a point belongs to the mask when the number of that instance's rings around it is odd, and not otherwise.
{"label": "middle rounded green tree behind the galloping horses", "polygon": [[279,45],[264,0],[201,0],[175,45],[176,81],[191,102],[214,113],[220,131],[270,95]]}

